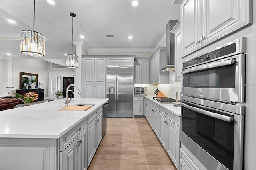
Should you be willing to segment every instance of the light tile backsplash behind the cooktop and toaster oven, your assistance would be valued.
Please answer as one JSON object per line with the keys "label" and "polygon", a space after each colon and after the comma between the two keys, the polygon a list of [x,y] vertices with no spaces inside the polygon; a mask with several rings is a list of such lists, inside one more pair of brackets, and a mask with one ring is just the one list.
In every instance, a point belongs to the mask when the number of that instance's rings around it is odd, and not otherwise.
{"label": "light tile backsplash behind the cooktop and toaster oven", "polygon": [[169,71],[169,83],[170,84],[134,84],[134,87],[147,87],[148,95],[156,96],[154,90],[158,88],[166,97],[176,99],[176,92],[181,92],[181,82],[174,82],[174,71]]}

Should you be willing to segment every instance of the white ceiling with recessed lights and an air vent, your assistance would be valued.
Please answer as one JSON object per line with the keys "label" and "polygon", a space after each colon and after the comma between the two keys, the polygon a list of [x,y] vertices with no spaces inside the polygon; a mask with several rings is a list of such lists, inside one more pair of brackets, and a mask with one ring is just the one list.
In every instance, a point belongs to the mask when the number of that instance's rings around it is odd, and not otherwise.
{"label": "white ceiling with recessed lights and an air vent", "polygon": [[[70,12],[76,14],[73,41],[82,41],[89,52],[152,52],[164,37],[168,20],[180,19],[180,6],[172,5],[173,0],[139,0],[138,6],[132,6],[132,0],[54,2],[36,0],[34,27],[46,37],[45,56],[40,59],[53,63],[64,63],[64,54],[72,52]],[[34,0],[0,0],[1,59],[31,58],[20,53],[20,31],[33,30],[33,6]]]}

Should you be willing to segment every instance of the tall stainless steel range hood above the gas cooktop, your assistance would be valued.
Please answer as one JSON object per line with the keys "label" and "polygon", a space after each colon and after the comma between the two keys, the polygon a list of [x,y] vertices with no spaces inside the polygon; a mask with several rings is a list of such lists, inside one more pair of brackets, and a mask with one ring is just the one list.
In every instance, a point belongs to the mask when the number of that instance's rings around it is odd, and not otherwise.
{"label": "tall stainless steel range hood above the gas cooktop", "polygon": [[172,28],[179,20],[170,20],[166,25],[166,59],[165,63],[160,63],[162,71],[174,70],[175,56],[174,56],[174,39],[175,35],[170,33]]}

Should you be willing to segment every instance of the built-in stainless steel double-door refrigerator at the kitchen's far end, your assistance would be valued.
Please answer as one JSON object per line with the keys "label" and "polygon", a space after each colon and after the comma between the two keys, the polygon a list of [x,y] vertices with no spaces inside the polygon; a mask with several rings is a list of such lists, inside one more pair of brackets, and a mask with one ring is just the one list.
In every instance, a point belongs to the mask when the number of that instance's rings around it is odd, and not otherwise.
{"label": "built-in stainless steel double-door refrigerator at the kitchen's far end", "polygon": [[133,66],[107,66],[108,117],[133,115]]}

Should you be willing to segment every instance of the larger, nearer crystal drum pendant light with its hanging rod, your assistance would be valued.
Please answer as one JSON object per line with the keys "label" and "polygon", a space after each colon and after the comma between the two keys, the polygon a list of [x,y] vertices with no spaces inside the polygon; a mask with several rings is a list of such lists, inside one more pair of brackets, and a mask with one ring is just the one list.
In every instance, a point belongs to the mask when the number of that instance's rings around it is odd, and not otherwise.
{"label": "larger, nearer crystal drum pendant light with its hanging rod", "polygon": [[35,31],[35,0],[33,31],[21,31],[20,52],[32,57],[44,57],[45,54],[45,37]]}

